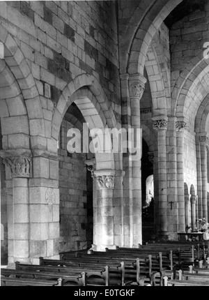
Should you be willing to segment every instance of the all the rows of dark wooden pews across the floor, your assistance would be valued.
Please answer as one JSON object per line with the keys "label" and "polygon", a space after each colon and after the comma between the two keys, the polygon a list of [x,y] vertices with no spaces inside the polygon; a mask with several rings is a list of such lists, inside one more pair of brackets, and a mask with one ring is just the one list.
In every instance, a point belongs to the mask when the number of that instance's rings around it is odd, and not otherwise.
{"label": "all the rows of dark wooden pews across the floor", "polygon": [[206,269],[203,278],[207,282],[207,246],[201,242],[146,243],[138,248],[61,253],[60,260],[40,257],[40,264],[16,262],[15,270],[1,268],[1,285],[169,286],[183,285],[183,281],[188,285],[198,269]]}

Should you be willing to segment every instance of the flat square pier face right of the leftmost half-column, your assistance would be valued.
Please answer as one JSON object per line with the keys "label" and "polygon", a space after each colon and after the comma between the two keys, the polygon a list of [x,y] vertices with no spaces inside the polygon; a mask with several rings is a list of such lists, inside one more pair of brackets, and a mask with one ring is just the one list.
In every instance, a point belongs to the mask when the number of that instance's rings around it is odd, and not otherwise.
{"label": "flat square pier face right of the leftmost half-column", "polygon": [[54,153],[33,151],[29,202],[31,263],[40,256],[59,258],[59,161]]}

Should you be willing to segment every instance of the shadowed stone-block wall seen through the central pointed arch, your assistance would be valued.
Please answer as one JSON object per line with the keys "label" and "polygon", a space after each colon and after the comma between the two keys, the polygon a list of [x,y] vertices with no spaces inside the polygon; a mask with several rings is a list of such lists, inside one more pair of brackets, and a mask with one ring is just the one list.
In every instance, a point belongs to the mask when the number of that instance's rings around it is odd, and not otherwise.
{"label": "shadowed stone-block wall seen through the central pointed arch", "polygon": [[[65,141],[59,149],[60,190],[60,250],[77,250],[87,247],[87,186],[86,156],[68,153],[67,131],[73,126],[63,120],[61,125]],[[89,241],[91,242],[91,241]]]}

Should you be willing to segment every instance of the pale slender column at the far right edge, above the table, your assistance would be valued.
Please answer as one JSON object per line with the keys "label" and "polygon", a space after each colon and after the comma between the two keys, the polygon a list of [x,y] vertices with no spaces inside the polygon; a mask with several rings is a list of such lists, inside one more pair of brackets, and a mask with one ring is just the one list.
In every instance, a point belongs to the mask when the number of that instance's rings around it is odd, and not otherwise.
{"label": "pale slender column at the far right edge, above the table", "polygon": [[206,218],[208,222],[208,199],[207,199],[207,149],[206,146],[209,144],[209,138],[206,135],[199,137],[201,147],[201,180],[202,180],[202,210],[203,218]]}

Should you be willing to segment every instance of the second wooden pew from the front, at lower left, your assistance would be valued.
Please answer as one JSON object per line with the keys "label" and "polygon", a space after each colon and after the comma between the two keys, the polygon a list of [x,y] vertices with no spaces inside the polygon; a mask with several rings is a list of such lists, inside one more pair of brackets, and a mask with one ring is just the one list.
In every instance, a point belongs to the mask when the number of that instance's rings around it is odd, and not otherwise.
{"label": "second wooden pew from the front, at lower left", "polygon": [[59,280],[62,279],[62,285],[68,283],[72,285],[85,286],[86,285],[86,273],[60,273],[54,271],[29,271],[29,270],[20,270],[20,269],[3,269],[1,268],[1,275],[5,277],[13,278],[31,278],[31,279],[47,279],[47,280]]}

